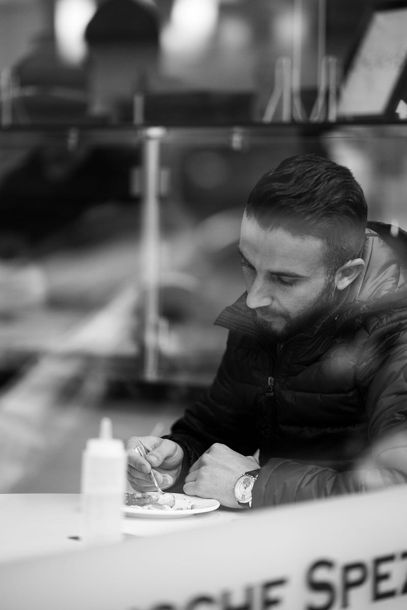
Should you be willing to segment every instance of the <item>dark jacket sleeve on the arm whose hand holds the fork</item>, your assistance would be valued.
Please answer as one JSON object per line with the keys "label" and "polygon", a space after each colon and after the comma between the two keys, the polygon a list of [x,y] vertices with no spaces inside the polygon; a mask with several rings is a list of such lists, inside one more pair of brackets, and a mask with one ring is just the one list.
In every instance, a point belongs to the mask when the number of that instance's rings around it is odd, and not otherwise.
{"label": "dark jacket sleeve on the arm whose hand holds the fork", "polygon": [[185,411],[173,425],[171,434],[165,437],[175,440],[184,450],[179,481],[183,481],[193,462],[214,443],[223,443],[243,455],[251,455],[257,449],[250,383],[242,381],[237,367],[239,349],[239,336],[231,332],[211,387]]}

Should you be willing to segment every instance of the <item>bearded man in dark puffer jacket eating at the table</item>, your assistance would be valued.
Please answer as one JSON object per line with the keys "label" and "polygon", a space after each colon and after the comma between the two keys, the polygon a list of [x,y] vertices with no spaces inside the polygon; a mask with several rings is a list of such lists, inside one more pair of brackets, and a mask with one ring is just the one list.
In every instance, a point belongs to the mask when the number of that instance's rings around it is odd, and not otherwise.
{"label": "bearded man in dark puffer jacket eating at the table", "polygon": [[248,198],[239,253],[247,293],[217,319],[217,376],[170,436],[126,441],[132,487],[154,468],[162,487],[257,507],[405,483],[407,267],[351,172],[284,160]]}

